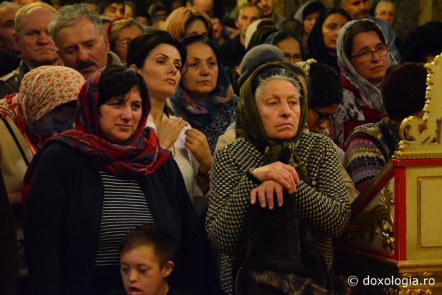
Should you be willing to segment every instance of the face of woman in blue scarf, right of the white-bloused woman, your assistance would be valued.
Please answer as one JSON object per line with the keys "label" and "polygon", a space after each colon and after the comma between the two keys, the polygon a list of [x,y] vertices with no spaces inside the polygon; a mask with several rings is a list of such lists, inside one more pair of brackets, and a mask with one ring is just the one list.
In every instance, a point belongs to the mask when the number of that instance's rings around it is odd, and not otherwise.
{"label": "face of woman in blue scarf, right of the white-bloused woman", "polygon": [[218,61],[206,44],[187,46],[187,60],[183,68],[182,87],[193,99],[207,97],[218,81]]}

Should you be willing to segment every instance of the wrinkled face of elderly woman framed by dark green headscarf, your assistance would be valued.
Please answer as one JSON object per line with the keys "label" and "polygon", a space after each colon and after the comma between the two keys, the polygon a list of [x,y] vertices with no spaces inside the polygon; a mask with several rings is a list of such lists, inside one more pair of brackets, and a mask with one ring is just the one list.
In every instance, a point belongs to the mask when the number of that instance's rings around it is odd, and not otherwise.
{"label": "wrinkled face of elderly woman framed by dark green headscarf", "polygon": [[298,131],[298,89],[285,79],[270,79],[256,90],[256,106],[265,133],[272,140],[290,140]]}

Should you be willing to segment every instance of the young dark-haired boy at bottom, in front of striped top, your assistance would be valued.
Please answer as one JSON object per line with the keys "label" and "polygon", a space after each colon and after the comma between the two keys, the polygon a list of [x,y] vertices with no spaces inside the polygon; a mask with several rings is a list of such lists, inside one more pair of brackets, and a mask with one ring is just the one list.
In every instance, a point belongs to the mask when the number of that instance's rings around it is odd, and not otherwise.
{"label": "young dark-haired boy at bottom, in front of striped top", "polygon": [[173,270],[173,242],[156,225],[130,231],[120,249],[120,271],[128,295],[177,295],[167,277]]}

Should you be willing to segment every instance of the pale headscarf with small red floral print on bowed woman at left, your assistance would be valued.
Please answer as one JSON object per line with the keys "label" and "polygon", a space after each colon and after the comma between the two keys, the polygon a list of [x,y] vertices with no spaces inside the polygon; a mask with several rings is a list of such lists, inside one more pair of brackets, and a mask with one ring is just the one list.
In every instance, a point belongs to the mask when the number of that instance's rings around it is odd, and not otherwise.
{"label": "pale headscarf with small red floral print on bowed woman at left", "polygon": [[77,100],[84,77],[65,66],[40,66],[24,75],[19,93],[0,100],[0,116],[11,117],[21,133],[34,144],[44,137],[32,136],[33,125],[61,104]]}

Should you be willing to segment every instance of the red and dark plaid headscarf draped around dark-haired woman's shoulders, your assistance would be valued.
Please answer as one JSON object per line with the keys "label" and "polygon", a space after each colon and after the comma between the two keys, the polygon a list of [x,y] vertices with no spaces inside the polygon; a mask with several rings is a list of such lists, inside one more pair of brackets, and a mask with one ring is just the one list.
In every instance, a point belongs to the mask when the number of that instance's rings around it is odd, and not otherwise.
{"label": "red and dark plaid headscarf draped around dark-haired woman's shoulders", "polygon": [[81,88],[77,99],[75,130],[64,131],[64,133],[52,137],[32,159],[23,182],[23,201],[28,193],[32,170],[37,164],[39,155],[46,146],[53,142],[67,144],[94,162],[99,169],[115,175],[148,175],[153,173],[169,157],[168,151],[160,149],[153,129],[143,135],[148,113],[151,110],[147,91],[146,97],[142,97],[141,120],[135,132],[124,144],[108,142],[99,134],[99,80],[105,69],[102,68],[90,76]]}

